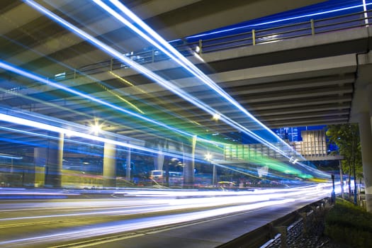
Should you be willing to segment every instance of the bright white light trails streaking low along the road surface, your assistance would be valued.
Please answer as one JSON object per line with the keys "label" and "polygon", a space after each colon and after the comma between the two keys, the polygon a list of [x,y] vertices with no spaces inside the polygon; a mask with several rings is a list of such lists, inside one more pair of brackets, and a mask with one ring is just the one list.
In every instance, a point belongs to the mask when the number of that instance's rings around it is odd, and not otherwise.
{"label": "bright white light trails streaking low along the road surface", "polygon": [[[94,238],[96,236],[102,235],[112,235],[118,232],[128,232],[133,230],[140,230],[143,228],[150,228],[150,227],[158,227],[164,225],[173,225],[176,223],[185,224],[190,221],[194,220],[205,220],[208,218],[216,218],[221,215],[235,215],[239,213],[246,213],[249,210],[255,210],[258,208],[265,208],[269,206],[276,206],[276,205],[283,205],[286,203],[294,203],[295,201],[301,202],[309,202],[309,201],[318,201],[324,198],[327,195],[330,195],[330,184],[322,184],[321,186],[304,186],[298,188],[285,188],[285,189],[268,189],[268,190],[257,190],[254,192],[221,192],[221,191],[213,191],[213,192],[198,192],[198,191],[161,191],[162,194],[159,195],[159,191],[145,191],[143,193],[153,193],[153,198],[147,198],[147,200],[139,200],[140,204],[143,205],[144,208],[139,208],[141,205],[135,204],[136,201],[128,199],[118,199],[113,200],[111,199],[108,201],[108,208],[104,210],[106,201],[101,200],[94,200],[90,199],[86,202],[83,201],[83,204],[86,205],[96,205],[94,202],[96,201],[99,207],[102,210],[96,211],[94,207],[89,209],[89,212],[86,213],[72,213],[72,214],[60,214],[60,215],[33,215],[29,217],[20,217],[20,218],[6,218],[3,221],[9,220],[17,220],[17,222],[21,220],[28,219],[37,219],[37,218],[56,218],[59,217],[69,217],[69,216],[81,216],[84,215],[123,215],[123,214],[139,214],[137,218],[130,219],[130,220],[122,220],[120,222],[107,222],[104,225],[102,224],[90,224],[86,227],[77,227],[72,228],[71,230],[67,231],[57,231],[57,232],[50,232],[48,235],[30,235],[30,234],[21,234],[22,238],[9,238],[9,239],[2,239],[0,241],[0,246],[11,247],[13,245],[37,245],[38,243],[45,243],[45,242],[56,242],[62,241],[68,237],[69,242],[74,239],[84,239]],[[129,193],[133,191],[120,191],[120,193]],[[137,191],[137,193],[140,191]],[[135,193],[135,192],[133,192]],[[217,194],[217,196],[213,196],[213,193]],[[164,196],[196,196],[196,198],[169,198],[166,199]],[[225,196],[218,196],[218,194],[225,194]],[[229,196],[230,194],[230,196]],[[200,196],[203,197],[200,197]],[[205,197],[210,196],[210,197]],[[300,199],[300,200],[299,200]],[[153,205],[151,203],[154,203]],[[234,206],[224,206],[225,203],[231,204],[239,204]],[[35,210],[38,209],[38,203],[32,203],[32,208]],[[43,207],[47,207],[48,205],[52,206],[51,210],[55,207],[58,207],[60,204],[63,205],[66,210],[73,210],[72,206],[77,206],[77,202],[61,202],[61,203],[40,203]],[[72,205],[70,205],[72,204]],[[133,205],[132,205],[133,204]],[[152,216],[149,218],[143,218],[141,213],[148,213],[148,211],[168,211],[168,210],[181,210],[187,208],[203,208],[205,206],[213,206],[215,204],[220,205],[220,208],[215,208],[211,210],[200,210],[194,211],[192,213],[176,213],[176,214],[165,214],[159,216]],[[13,204],[11,204],[13,205]],[[9,207],[11,207],[9,205]],[[152,206],[151,206],[152,205]],[[120,206],[123,209],[116,209]],[[63,210],[63,208],[57,208],[58,212]],[[79,211],[82,209],[78,208]],[[222,218],[222,217],[220,217]],[[1,219],[0,219],[1,220]]]}

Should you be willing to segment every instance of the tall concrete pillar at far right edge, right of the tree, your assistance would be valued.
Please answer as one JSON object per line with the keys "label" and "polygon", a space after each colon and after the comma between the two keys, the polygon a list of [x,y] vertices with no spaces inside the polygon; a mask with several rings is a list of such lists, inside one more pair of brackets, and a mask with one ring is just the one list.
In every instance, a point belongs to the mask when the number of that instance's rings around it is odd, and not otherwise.
{"label": "tall concrete pillar at far right edge, right of the tree", "polygon": [[366,184],[366,207],[372,212],[372,135],[371,116],[369,113],[359,113],[359,133],[361,136],[361,157],[363,162],[363,177]]}

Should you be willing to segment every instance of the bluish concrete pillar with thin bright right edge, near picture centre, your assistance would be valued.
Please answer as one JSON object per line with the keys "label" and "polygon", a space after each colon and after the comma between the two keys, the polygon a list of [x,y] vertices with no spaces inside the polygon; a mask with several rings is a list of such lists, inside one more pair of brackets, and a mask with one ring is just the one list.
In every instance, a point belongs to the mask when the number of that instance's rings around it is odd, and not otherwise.
{"label": "bluish concrete pillar with thin bright right edge, near picture centre", "polygon": [[184,145],[184,185],[193,186],[195,169],[196,135],[193,136],[191,147]]}

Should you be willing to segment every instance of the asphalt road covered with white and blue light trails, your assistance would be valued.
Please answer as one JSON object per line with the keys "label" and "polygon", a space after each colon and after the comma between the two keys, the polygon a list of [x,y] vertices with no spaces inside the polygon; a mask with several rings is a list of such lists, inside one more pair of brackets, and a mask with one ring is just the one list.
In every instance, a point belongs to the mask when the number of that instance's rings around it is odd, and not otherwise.
{"label": "asphalt road covered with white and blue light trails", "polygon": [[101,193],[3,198],[0,247],[216,247],[329,196],[330,187]]}

